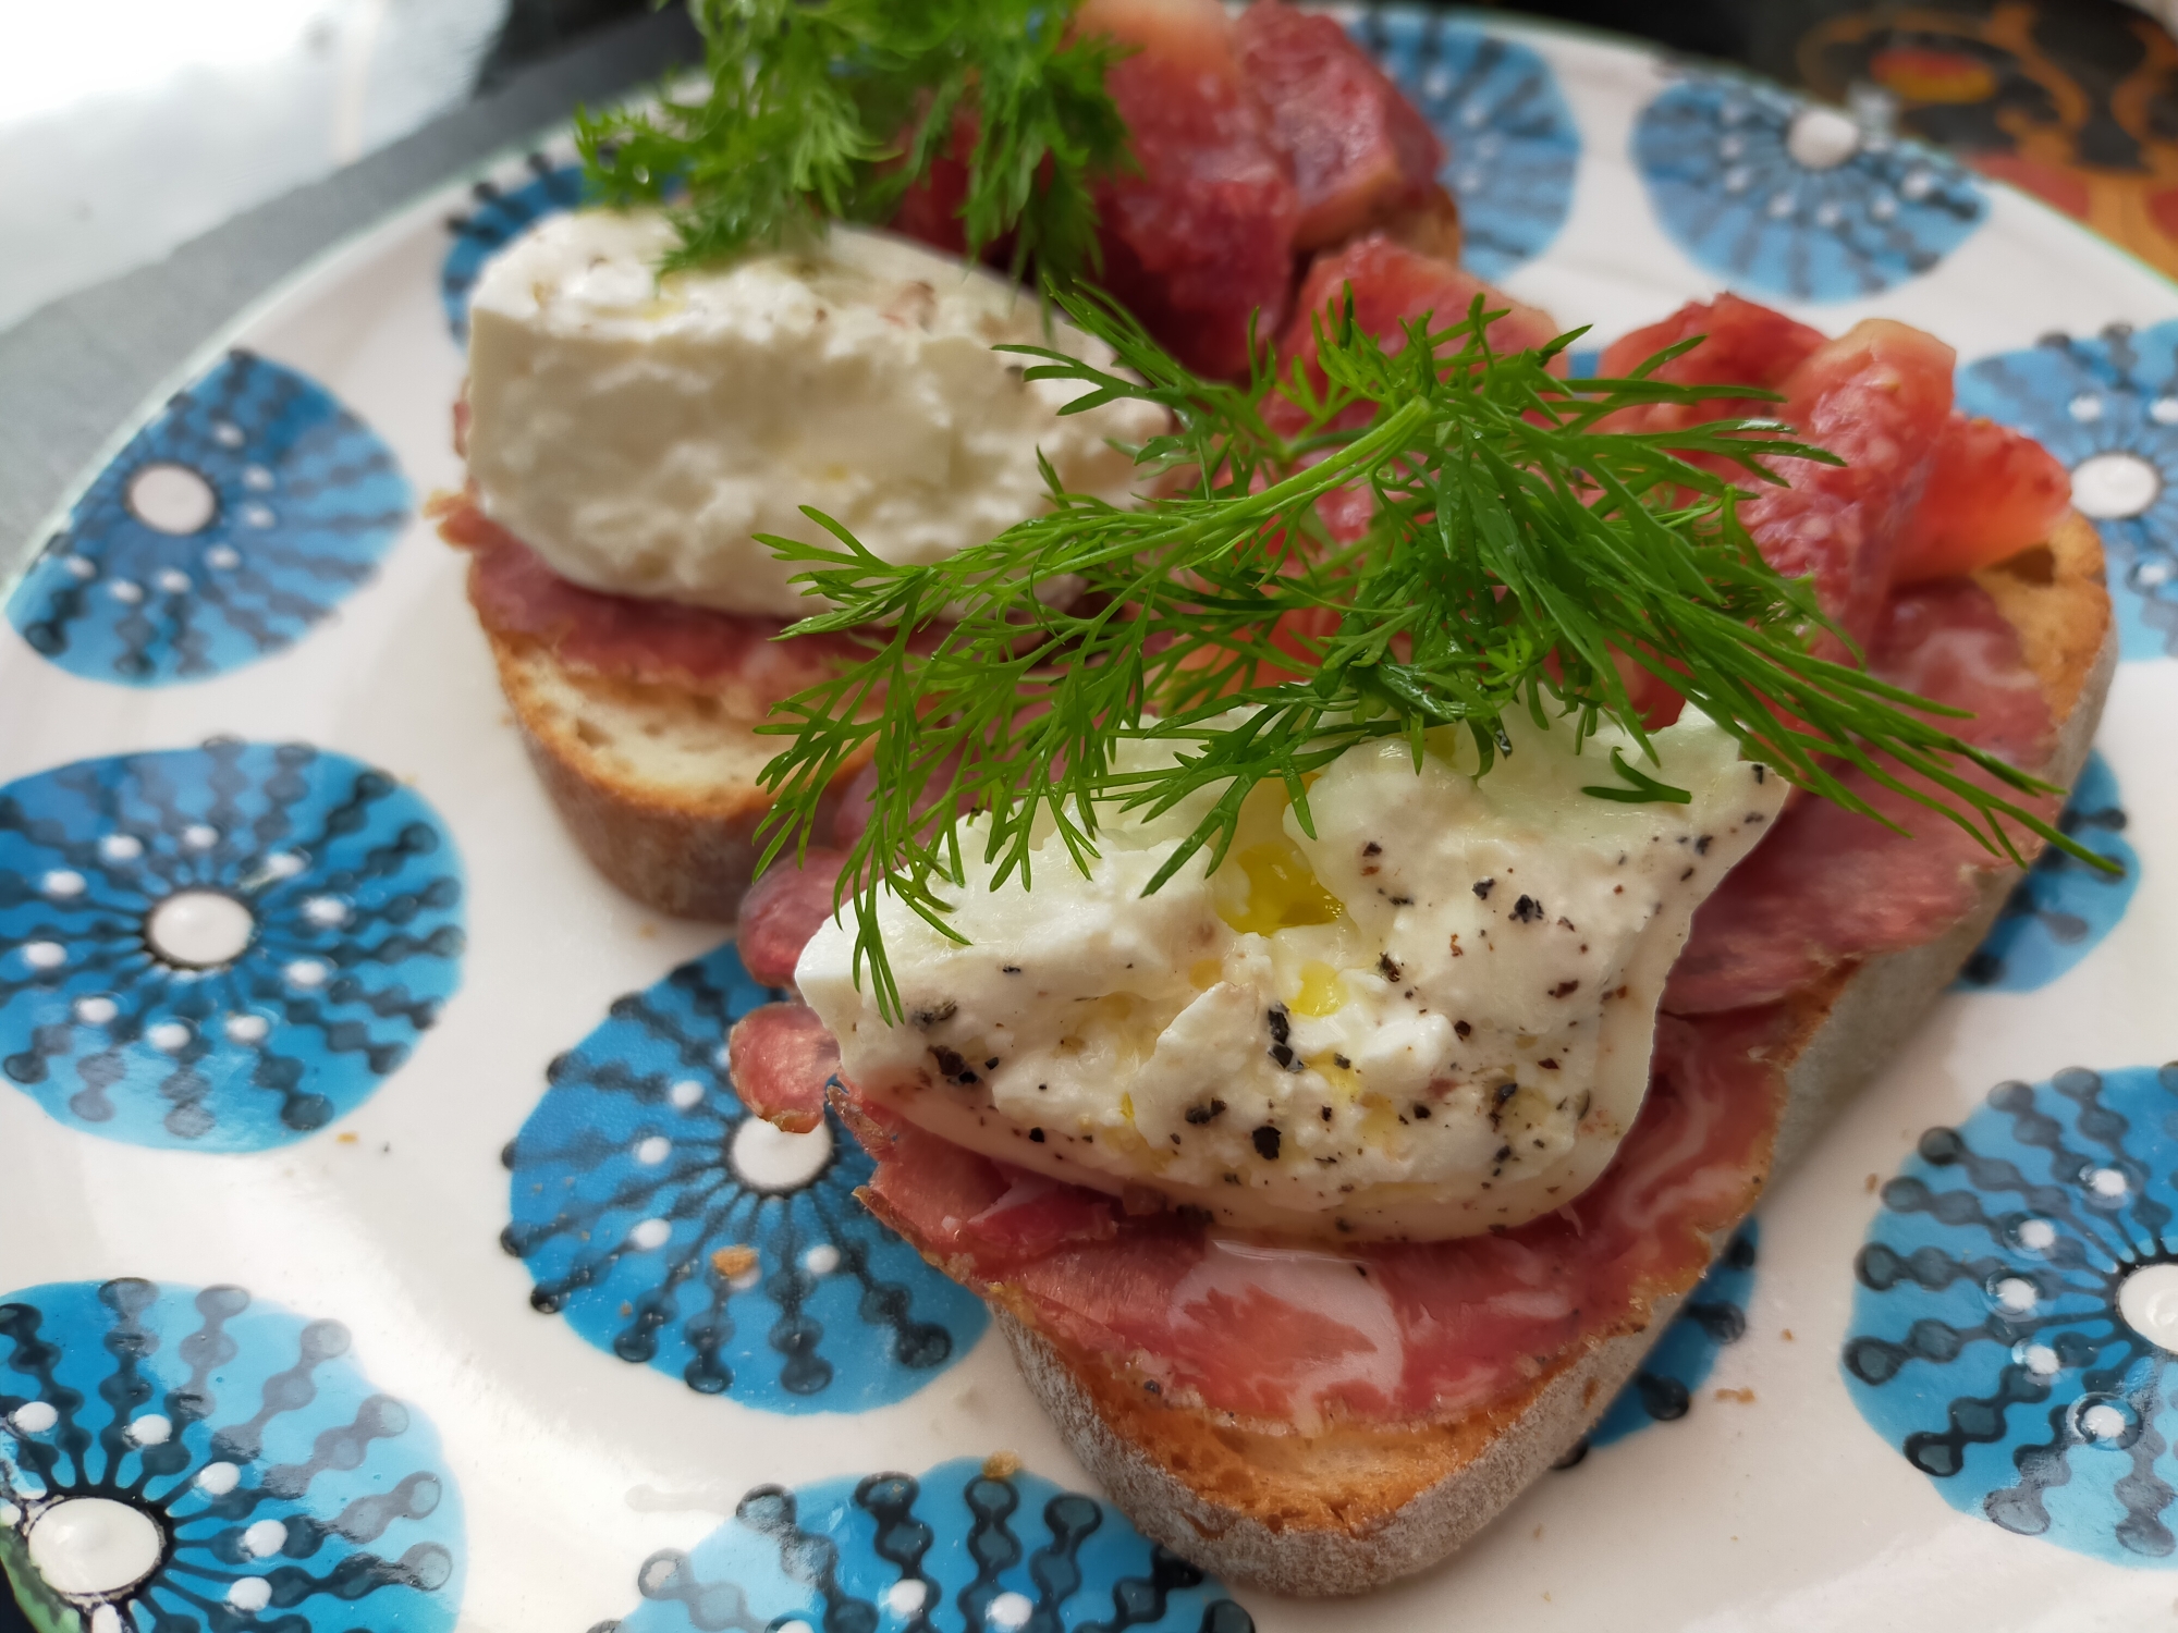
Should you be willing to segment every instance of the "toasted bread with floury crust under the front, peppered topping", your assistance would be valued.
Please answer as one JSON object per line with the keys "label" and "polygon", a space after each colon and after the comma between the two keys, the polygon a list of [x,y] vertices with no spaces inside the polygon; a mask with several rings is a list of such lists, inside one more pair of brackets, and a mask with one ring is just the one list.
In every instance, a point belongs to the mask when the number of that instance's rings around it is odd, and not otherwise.
{"label": "toasted bread with floury crust under the front, peppered topping", "polygon": [[[2019,629],[2058,723],[2039,771],[2069,786],[2117,668],[2102,542],[2080,516],[2067,516],[2047,544],[1978,577]],[[1991,871],[1975,910],[1938,938],[1838,969],[1788,999],[1773,1174],[1921,1021],[2015,880]],[[1714,1245],[1729,1235],[1721,1230]],[[995,1313],[1028,1387],[1146,1535],[1228,1581],[1326,1596],[1422,1570],[1490,1524],[1594,1426],[1688,1291],[1692,1276],[1657,1289],[1634,1330],[1599,1337],[1496,1411],[1411,1428],[1335,1424],[1316,1435],[1261,1433],[1222,1413],[1165,1404],[1019,1313]]]}

